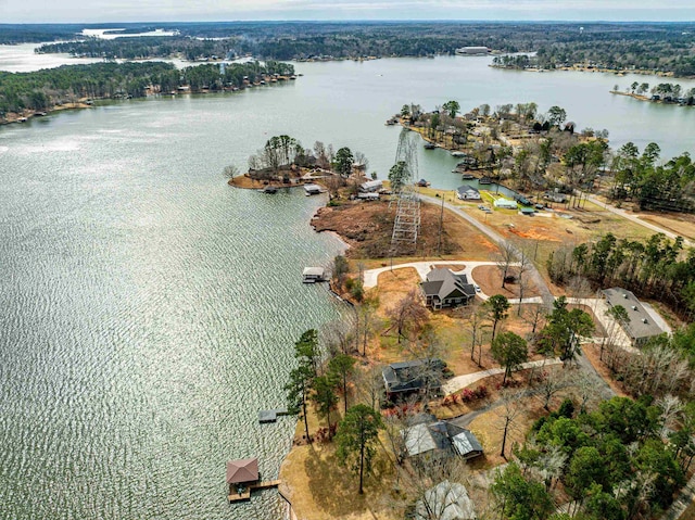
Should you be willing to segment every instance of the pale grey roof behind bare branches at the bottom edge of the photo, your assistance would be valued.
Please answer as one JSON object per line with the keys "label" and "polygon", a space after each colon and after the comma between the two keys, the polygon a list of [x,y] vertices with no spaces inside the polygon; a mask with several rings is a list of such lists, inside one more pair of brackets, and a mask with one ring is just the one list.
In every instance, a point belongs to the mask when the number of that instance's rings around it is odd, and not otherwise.
{"label": "pale grey roof behind bare branches at the bottom edge of the photo", "polygon": [[[425,492],[415,506],[416,519],[473,520],[476,509],[468,492],[458,482],[442,481]],[[428,512],[429,510],[429,512]],[[433,513],[433,516],[432,516]]]}

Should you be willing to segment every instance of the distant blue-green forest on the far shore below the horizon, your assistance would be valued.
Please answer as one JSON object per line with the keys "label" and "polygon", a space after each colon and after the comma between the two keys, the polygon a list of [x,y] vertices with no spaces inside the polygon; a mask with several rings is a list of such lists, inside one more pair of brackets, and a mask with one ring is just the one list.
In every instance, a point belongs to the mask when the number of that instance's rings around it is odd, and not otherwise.
{"label": "distant blue-green forest on the far shore below the horizon", "polygon": [[[557,68],[582,64],[695,75],[695,24],[692,23],[590,23],[580,27],[570,23],[253,22],[157,24],[157,27],[176,29],[179,36],[87,39],[47,45],[40,52],[125,59],[176,54],[190,60],[251,53],[262,59],[302,60],[425,56],[453,54],[465,46],[485,46],[504,53],[535,53],[498,61],[502,66]],[[130,27],[129,30],[137,28],[152,27]],[[4,30],[0,28],[0,37],[8,33],[7,26]],[[53,39],[56,38],[47,38]]]}

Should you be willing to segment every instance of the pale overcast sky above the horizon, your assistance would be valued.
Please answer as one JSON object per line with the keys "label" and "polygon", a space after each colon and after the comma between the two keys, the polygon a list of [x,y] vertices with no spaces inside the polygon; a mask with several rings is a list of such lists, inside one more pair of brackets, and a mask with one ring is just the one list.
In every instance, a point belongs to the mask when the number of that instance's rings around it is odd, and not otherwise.
{"label": "pale overcast sky above the horizon", "polygon": [[0,0],[0,23],[236,20],[695,21],[695,0]]}

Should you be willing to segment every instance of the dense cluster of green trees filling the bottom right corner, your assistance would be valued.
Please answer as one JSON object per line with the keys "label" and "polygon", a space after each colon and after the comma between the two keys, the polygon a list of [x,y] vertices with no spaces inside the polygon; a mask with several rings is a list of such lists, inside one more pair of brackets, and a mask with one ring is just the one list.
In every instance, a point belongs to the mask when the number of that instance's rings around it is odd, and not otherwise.
{"label": "dense cluster of green trees filling the bottom right corner", "polygon": [[[591,413],[566,401],[533,426],[491,491],[503,518],[630,520],[658,517],[685,483],[695,407],[614,397]],[[685,427],[674,432],[674,422]],[[665,442],[667,441],[667,442]],[[556,512],[557,496],[572,500]]]}

